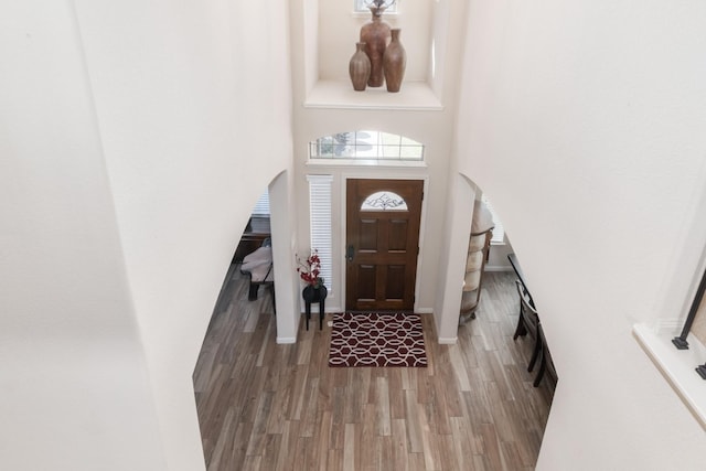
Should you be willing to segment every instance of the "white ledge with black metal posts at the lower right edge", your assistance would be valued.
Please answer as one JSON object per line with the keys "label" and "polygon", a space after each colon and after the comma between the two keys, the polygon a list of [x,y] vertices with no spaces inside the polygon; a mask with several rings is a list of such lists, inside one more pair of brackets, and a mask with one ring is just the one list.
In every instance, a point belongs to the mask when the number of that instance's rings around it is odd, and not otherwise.
{"label": "white ledge with black metal posts at the lower right edge", "polygon": [[[706,347],[694,336],[686,338],[688,350],[677,350],[672,339],[678,335],[678,323],[637,324],[632,333],[657,370],[670,383],[696,420],[706,430],[706,381],[696,373],[706,363]],[[675,333],[676,332],[676,333]]]}

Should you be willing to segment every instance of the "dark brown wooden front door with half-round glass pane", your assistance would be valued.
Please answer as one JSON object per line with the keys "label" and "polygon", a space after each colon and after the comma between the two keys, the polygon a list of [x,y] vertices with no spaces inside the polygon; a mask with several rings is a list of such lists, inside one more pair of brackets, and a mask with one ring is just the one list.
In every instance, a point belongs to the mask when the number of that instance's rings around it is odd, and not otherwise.
{"label": "dark brown wooden front door with half-round glass pane", "polygon": [[411,311],[421,180],[347,180],[345,307]]}

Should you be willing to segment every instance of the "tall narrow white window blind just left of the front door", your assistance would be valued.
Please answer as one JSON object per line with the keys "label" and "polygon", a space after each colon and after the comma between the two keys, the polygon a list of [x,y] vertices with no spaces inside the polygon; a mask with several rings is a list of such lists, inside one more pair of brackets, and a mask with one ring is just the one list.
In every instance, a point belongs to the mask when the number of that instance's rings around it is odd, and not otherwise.
{"label": "tall narrow white window blind just left of the front door", "polygon": [[311,250],[319,253],[323,283],[333,287],[333,244],[331,234],[332,175],[307,175],[309,181],[309,218],[311,221]]}

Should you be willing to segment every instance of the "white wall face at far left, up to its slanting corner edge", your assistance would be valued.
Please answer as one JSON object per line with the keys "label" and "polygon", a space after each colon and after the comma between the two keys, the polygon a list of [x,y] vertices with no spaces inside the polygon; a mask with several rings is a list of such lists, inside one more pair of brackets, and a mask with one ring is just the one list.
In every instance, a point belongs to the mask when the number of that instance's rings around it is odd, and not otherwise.
{"label": "white wall face at far left, up to its slanting corner edge", "polygon": [[4,2],[0,64],[0,468],[165,469],[72,3]]}

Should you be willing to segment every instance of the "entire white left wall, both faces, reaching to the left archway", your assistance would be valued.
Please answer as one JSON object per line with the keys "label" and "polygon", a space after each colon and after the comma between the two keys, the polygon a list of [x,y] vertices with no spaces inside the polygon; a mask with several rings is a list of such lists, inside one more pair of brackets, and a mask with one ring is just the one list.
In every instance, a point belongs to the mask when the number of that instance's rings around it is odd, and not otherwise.
{"label": "entire white left wall, both faces, reaching to the left archway", "polygon": [[291,162],[287,2],[24,3],[0,15],[0,468],[203,469],[193,367]]}

